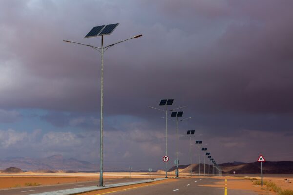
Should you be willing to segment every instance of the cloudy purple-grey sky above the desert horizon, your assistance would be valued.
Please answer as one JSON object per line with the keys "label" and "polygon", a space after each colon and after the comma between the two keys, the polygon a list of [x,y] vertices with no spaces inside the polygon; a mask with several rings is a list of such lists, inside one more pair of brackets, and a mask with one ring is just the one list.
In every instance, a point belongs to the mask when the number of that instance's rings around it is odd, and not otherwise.
{"label": "cloudy purple-grey sky above the desert horizon", "polygon": [[[0,159],[61,154],[99,163],[101,55],[84,36],[119,23],[104,44],[104,167],[164,169],[161,99],[218,164],[293,161],[293,1],[1,0]],[[164,108],[163,108],[164,109]],[[170,117],[170,113],[168,113]],[[175,118],[173,118],[175,119]],[[200,135],[200,136],[198,136]],[[168,120],[169,167],[176,123]],[[203,154],[200,153],[201,160]]]}

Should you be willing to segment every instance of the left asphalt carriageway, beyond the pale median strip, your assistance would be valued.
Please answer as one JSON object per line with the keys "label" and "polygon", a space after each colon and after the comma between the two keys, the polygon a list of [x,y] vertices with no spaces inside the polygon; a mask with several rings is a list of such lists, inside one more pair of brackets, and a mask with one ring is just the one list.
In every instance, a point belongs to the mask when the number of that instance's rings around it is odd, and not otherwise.
{"label": "left asphalt carriageway, beyond the pale median strip", "polygon": [[[103,179],[104,184],[115,184],[115,183],[124,183],[131,181],[141,181],[142,179]],[[0,190],[0,195],[28,195],[33,193],[42,193],[42,192],[51,192],[57,190],[65,190],[79,187],[87,187],[99,185],[99,179],[94,181],[86,181],[86,182],[75,182],[75,183],[67,183],[67,184],[56,184],[56,185],[43,185],[43,186],[34,186],[34,187],[24,187],[24,188],[10,188]]]}

